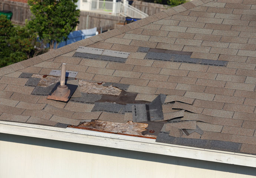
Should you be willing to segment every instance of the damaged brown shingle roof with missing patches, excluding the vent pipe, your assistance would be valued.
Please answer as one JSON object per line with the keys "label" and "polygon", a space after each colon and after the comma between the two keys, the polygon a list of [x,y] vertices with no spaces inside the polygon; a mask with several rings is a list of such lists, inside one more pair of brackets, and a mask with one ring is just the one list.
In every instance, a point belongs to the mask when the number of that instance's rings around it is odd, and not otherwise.
{"label": "damaged brown shingle roof with missing patches, excluding the vent pipe", "polygon": [[[0,120],[255,155],[256,2],[230,2],[193,0],[1,68]],[[62,63],[79,86],[67,103],[46,99]]]}

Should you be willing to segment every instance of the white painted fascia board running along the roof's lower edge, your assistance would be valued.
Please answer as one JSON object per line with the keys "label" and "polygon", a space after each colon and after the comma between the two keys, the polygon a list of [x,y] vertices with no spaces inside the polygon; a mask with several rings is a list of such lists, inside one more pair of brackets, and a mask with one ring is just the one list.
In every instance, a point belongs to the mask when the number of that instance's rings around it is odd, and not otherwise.
{"label": "white painted fascia board running along the roof's lower edge", "polygon": [[155,142],[155,139],[117,135],[75,128],[56,128],[0,121],[0,133],[74,142],[132,151],[256,167],[256,156]]}

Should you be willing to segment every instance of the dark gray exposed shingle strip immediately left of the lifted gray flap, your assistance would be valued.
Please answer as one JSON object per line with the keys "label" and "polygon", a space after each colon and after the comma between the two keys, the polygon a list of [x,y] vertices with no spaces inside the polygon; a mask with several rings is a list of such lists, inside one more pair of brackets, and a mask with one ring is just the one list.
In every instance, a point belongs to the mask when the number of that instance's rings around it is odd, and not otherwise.
{"label": "dark gray exposed shingle strip immediately left of the lifted gray flap", "polygon": [[95,106],[92,108],[92,112],[93,111],[105,111],[124,114],[125,105],[108,102],[96,102]]}

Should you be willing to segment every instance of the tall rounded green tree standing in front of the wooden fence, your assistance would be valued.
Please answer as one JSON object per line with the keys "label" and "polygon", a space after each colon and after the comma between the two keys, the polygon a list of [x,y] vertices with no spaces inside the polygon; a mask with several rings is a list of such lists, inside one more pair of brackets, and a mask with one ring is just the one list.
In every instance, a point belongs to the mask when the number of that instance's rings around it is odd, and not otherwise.
{"label": "tall rounded green tree standing in front of the wooden fence", "polygon": [[80,11],[76,10],[78,0],[28,0],[32,19],[29,27],[35,29],[39,39],[54,49],[58,43],[68,39],[68,35],[79,23]]}

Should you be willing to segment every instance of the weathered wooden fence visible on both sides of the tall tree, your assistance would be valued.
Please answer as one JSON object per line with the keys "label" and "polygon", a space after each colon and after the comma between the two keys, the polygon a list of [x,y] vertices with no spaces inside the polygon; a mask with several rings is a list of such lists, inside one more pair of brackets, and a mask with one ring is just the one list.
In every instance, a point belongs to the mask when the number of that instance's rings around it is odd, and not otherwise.
{"label": "weathered wooden fence visible on both sides of the tall tree", "polygon": [[[24,25],[26,19],[30,20],[31,12],[27,3],[0,0],[0,10],[12,11],[12,22],[14,24]],[[116,24],[123,24],[124,21],[125,18],[121,16],[81,11],[78,30],[97,27],[98,31],[105,31],[114,29]]]}

